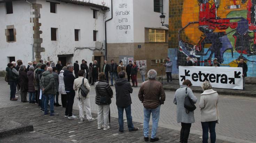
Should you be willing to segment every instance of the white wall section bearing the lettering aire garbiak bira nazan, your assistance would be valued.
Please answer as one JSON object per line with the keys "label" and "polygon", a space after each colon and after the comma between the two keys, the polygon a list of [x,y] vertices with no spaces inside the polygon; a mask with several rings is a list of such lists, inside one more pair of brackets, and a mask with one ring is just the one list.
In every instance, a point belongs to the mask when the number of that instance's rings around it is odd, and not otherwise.
{"label": "white wall section bearing the lettering aire garbiak bira nazan", "polygon": [[[113,19],[107,22],[107,43],[134,42],[133,15],[133,0],[113,0]],[[111,7],[106,19],[109,18]]]}

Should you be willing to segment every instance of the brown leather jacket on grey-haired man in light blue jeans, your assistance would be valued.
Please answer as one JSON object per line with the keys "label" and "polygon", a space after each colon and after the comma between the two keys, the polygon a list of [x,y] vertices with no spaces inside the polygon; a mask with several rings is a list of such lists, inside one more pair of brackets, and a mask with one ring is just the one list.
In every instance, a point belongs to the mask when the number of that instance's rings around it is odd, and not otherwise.
{"label": "brown leather jacket on grey-haired man in light blue jeans", "polygon": [[148,109],[155,109],[160,104],[164,104],[165,92],[160,82],[149,79],[141,84],[139,99],[143,106]]}

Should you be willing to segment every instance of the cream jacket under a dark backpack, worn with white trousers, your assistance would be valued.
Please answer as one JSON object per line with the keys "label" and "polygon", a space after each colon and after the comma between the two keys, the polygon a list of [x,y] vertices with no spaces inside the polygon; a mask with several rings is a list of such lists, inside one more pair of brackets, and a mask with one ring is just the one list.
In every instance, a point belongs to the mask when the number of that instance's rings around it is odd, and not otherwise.
{"label": "cream jacket under a dark backpack, worn with white trousers", "polygon": [[[76,97],[76,98],[79,98],[79,97],[80,97],[80,99],[84,99],[84,98],[85,98],[85,97],[83,97],[83,96],[81,95],[81,91],[80,91],[80,94],[78,94],[79,88],[80,88],[81,85],[82,85],[83,78],[84,78],[84,77],[78,77],[77,79],[75,79],[74,84],[73,84],[73,89],[74,89],[75,92],[76,92],[75,97]],[[84,87],[86,87],[86,89],[88,89],[89,92],[90,92],[91,87],[90,87],[90,85],[89,85],[87,79],[84,79]],[[86,98],[89,98],[89,93],[88,93],[88,95],[86,96]]]}

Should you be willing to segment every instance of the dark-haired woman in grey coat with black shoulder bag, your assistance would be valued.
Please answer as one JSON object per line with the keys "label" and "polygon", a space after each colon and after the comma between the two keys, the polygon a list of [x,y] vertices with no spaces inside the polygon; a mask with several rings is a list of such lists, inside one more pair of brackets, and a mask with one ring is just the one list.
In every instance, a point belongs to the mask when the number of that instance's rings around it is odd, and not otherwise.
{"label": "dark-haired woman in grey coat with black shoulder bag", "polygon": [[187,143],[191,124],[195,122],[194,111],[189,111],[187,114],[186,108],[184,107],[186,88],[187,95],[192,99],[193,103],[195,104],[197,101],[197,98],[190,89],[191,86],[192,83],[190,80],[184,80],[183,85],[176,90],[173,99],[173,103],[177,105],[177,122],[181,123],[180,143]]}

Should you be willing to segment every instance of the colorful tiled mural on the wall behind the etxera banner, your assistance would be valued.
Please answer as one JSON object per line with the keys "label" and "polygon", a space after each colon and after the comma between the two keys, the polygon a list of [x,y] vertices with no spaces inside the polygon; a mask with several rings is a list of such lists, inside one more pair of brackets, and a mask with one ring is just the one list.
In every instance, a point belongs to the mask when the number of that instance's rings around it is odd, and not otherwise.
{"label": "colorful tiled mural on the wall behind the etxera banner", "polygon": [[197,66],[217,58],[237,67],[244,58],[256,77],[256,0],[169,0],[168,55],[174,73],[187,56]]}

